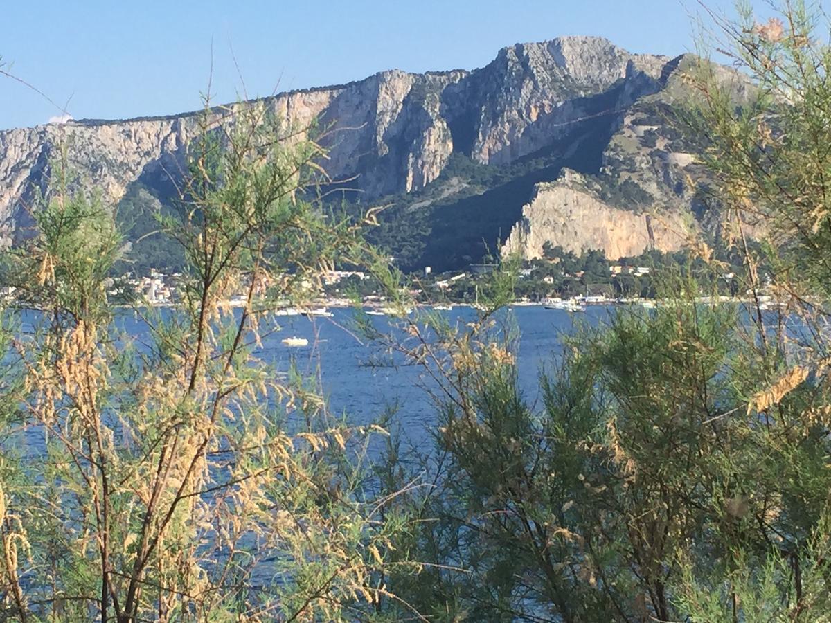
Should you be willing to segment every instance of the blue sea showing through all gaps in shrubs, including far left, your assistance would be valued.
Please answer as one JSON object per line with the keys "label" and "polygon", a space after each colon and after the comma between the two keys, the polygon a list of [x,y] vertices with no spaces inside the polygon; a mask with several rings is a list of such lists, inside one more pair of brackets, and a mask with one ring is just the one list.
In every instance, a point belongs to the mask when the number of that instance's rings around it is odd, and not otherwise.
{"label": "blue sea showing through all gaps in shrubs, including far left", "polygon": [[[580,326],[597,326],[614,313],[612,306],[587,306],[583,312],[546,309],[542,306],[515,306],[499,310],[493,317],[494,331],[514,336],[512,348],[517,363],[519,386],[534,408],[540,400],[540,375],[557,364],[563,351],[563,337]],[[327,415],[348,425],[368,426],[384,422],[384,428],[401,444],[419,452],[432,443],[438,422],[438,408],[431,398],[435,381],[421,365],[413,365],[389,351],[378,341],[367,340],[358,330],[352,308],[332,307],[331,316],[278,316],[272,324],[261,323],[261,344],[253,356],[273,367],[276,375],[290,370],[309,380],[325,398]],[[410,320],[418,321],[418,314]],[[175,313],[165,310],[163,313]],[[239,310],[234,310],[235,314]],[[474,307],[455,306],[435,310],[450,326],[466,331],[478,318]],[[400,320],[390,316],[363,316],[382,334],[401,337]],[[22,333],[42,324],[38,312],[21,312]],[[124,310],[116,317],[116,328],[137,344],[149,344],[149,327],[142,315]],[[288,346],[286,338],[303,338],[306,346]],[[26,452],[44,451],[42,429],[27,426]]]}

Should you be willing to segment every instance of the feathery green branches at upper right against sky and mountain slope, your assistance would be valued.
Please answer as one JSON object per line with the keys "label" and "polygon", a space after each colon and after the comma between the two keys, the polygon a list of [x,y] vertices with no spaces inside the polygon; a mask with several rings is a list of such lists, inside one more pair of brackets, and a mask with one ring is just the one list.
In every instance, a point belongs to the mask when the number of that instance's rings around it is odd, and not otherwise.
{"label": "feathery green branches at upper right against sky and mountain slope", "polygon": [[686,119],[691,134],[709,139],[706,164],[736,217],[730,238],[749,238],[750,228],[765,223],[779,270],[798,268],[801,286],[825,296],[831,51],[819,30],[826,19],[801,0],[779,8],[781,17],[766,24],[744,6],[735,23],[719,23],[741,72],[720,75],[706,62],[691,71],[699,96]]}

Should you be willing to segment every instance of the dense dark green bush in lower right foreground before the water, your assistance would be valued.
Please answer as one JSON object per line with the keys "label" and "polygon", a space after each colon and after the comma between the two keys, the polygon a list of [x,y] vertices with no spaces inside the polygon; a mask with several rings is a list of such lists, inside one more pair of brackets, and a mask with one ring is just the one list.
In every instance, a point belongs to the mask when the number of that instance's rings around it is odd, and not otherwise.
{"label": "dense dark green bush in lower right foreground before the water", "polygon": [[[416,467],[433,484],[400,500],[425,522],[396,548],[435,567],[392,576],[396,592],[445,621],[678,621],[742,591],[757,596],[740,620],[795,605],[814,621],[827,607],[812,544],[824,543],[829,446],[804,400],[828,404],[829,388],[791,388],[772,418],[735,307],[696,305],[690,277],[665,287],[686,294],[569,340],[542,408],[518,389],[499,322],[435,326],[430,346],[410,346],[446,367],[435,453]],[[793,362],[771,364],[775,379]],[[415,478],[392,463],[386,478]],[[755,573],[794,564],[803,579]],[[723,620],[712,612],[703,620]]]}

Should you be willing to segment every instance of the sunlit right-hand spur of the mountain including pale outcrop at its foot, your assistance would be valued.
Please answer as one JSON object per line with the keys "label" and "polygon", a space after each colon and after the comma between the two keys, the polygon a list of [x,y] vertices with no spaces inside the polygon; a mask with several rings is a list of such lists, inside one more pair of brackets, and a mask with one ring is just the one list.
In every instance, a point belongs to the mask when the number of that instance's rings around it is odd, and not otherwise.
{"label": "sunlit right-hand spur of the mountain including pale outcrop at its foot", "polygon": [[[725,223],[704,192],[710,179],[696,156],[699,137],[672,121],[676,101],[689,96],[681,72],[695,60],[679,56],[660,71],[653,61],[641,60],[649,76],[659,74],[658,88],[620,98],[627,105],[615,118],[599,170],[581,175],[566,169],[552,183],[535,187],[503,252],[539,258],[550,243],[575,253],[598,249],[617,259],[648,248],[676,251],[702,231],[720,235]],[[736,101],[749,97],[744,76],[725,67],[716,75]],[[632,84],[624,82],[624,90]]]}

